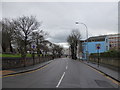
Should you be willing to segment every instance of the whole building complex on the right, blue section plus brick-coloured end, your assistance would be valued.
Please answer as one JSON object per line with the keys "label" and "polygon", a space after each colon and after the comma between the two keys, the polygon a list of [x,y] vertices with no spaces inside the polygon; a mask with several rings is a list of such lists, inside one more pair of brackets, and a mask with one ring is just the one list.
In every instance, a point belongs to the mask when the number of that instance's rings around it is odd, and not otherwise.
{"label": "whole building complex on the right, blue section plus brick-coloured end", "polygon": [[[100,49],[97,49],[99,45]],[[82,42],[82,59],[86,60],[91,53],[102,53],[109,50],[120,50],[120,34],[90,37]]]}

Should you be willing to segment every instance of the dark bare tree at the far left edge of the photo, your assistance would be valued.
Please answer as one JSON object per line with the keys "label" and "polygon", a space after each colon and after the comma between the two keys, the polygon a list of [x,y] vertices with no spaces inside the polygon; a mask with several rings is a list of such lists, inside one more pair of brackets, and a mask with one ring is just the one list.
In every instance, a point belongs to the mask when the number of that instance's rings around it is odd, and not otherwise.
{"label": "dark bare tree at the far left edge of the photo", "polygon": [[6,52],[9,47],[10,52],[13,52],[12,40],[14,38],[14,30],[12,22],[9,19],[3,18],[2,20],[2,50]]}

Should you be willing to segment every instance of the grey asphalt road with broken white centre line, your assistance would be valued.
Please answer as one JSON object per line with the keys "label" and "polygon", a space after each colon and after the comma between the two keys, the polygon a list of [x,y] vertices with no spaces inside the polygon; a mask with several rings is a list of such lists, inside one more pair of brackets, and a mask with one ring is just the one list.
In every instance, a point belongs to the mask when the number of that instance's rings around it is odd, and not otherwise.
{"label": "grey asphalt road with broken white centre line", "polygon": [[118,88],[112,80],[86,64],[60,58],[29,73],[2,78],[3,88]]}

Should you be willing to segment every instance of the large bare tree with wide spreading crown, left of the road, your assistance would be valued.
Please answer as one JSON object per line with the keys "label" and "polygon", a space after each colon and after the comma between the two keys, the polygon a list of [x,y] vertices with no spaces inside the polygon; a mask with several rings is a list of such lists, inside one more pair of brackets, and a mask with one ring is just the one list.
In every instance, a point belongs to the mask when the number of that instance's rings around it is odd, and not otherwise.
{"label": "large bare tree with wide spreading crown, left of the road", "polygon": [[21,54],[23,57],[26,57],[27,45],[30,43],[31,34],[33,31],[38,30],[40,22],[38,22],[34,16],[22,16],[13,19],[13,25]]}

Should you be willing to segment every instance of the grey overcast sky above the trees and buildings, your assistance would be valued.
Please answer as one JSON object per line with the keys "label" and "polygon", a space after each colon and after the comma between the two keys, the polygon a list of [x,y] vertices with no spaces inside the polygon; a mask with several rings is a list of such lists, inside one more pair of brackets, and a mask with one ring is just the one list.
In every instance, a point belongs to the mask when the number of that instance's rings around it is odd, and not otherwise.
{"label": "grey overcast sky above the trees and buildings", "polygon": [[4,2],[2,17],[36,16],[42,21],[41,29],[49,33],[48,40],[66,46],[72,29],[78,28],[86,39],[85,23],[89,37],[118,33],[117,2]]}

